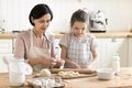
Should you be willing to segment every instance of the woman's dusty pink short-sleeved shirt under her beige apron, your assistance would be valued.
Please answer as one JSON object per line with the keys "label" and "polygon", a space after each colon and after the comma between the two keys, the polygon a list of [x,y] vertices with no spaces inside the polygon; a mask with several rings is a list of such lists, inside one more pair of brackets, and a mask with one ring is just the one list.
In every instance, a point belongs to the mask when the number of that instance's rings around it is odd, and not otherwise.
{"label": "woman's dusty pink short-sleeved shirt under her beige apron", "polygon": [[[14,57],[21,57],[21,58],[28,58],[28,54],[30,52],[31,47],[31,30],[24,31],[20,34],[18,34],[15,40],[15,51],[14,51]],[[54,57],[54,37],[53,35],[46,33],[46,37],[51,42],[52,48],[51,48],[51,55]],[[45,37],[44,37],[45,40]],[[44,41],[44,45],[47,45],[47,42]],[[37,46],[36,42],[36,35],[33,34],[33,45]]]}

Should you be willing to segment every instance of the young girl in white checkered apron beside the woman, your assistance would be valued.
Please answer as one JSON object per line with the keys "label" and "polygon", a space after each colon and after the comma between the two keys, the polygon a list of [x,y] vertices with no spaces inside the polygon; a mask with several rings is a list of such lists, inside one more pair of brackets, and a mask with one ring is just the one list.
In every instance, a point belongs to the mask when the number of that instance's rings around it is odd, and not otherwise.
{"label": "young girl in white checkered apron beside the woman", "polygon": [[66,67],[91,68],[97,59],[96,37],[86,33],[88,29],[88,13],[77,10],[70,19],[70,33],[65,34],[59,45],[62,47],[62,58],[65,59]]}

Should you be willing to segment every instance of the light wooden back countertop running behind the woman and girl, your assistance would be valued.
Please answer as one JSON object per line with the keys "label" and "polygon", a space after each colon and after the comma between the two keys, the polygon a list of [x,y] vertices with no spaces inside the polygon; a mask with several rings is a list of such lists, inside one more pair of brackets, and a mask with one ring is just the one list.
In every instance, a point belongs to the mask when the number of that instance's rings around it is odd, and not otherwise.
{"label": "light wooden back countertop running behind the woman and girl", "polygon": [[[106,32],[106,33],[92,33],[96,37],[132,37],[132,32]],[[62,37],[64,34],[53,34],[56,38]],[[16,34],[13,33],[0,33],[0,38],[15,38]]]}

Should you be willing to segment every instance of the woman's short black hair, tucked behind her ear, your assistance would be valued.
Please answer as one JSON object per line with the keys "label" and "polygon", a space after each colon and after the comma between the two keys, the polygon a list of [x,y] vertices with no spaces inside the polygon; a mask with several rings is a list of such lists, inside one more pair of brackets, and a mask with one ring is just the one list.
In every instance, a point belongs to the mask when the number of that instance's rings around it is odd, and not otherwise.
{"label": "woman's short black hair, tucked behind her ear", "polygon": [[47,4],[36,4],[32,10],[31,10],[31,13],[29,15],[29,20],[30,20],[30,23],[32,25],[34,25],[34,23],[32,22],[32,18],[33,19],[40,19],[42,18],[44,14],[47,14],[50,13],[51,14],[51,21],[53,19],[53,12],[52,10],[50,9],[50,7]]}

